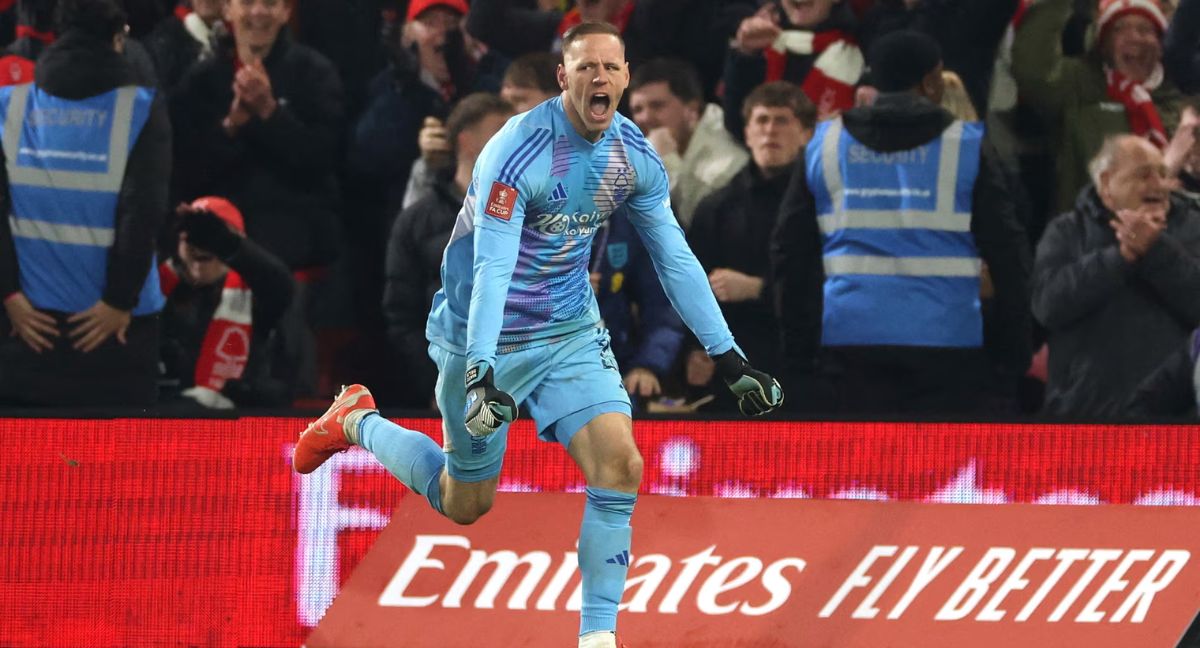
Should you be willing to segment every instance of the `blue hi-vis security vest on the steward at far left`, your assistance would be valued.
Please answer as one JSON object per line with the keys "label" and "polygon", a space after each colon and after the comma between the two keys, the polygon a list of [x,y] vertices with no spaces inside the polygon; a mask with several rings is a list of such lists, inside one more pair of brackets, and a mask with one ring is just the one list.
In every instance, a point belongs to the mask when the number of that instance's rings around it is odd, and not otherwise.
{"label": "blue hi-vis security vest on the steward at far left", "polygon": [[[79,312],[101,298],[125,166],[152,100],[152,89],[132,85],[85,100],[32,84],[0,88],[8,223],[20,289],[37,308]],[[133,314],[162,305],[158,272],[150,271]]]}

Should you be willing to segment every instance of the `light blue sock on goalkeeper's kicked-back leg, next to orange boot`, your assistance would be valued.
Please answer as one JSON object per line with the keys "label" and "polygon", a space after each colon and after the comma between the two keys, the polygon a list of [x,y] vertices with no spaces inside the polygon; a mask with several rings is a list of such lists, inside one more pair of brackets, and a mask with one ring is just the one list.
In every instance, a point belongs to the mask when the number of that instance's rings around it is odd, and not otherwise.
{"label": "light blue sock on goalkeeper's kicked-back leg, next to orange boot", "polygon": [[433,439],[371,413],[359,424],[359,445],[366,448],[396,479],[424,494],[430,506],[442,510],[442,484],[446,457]]}

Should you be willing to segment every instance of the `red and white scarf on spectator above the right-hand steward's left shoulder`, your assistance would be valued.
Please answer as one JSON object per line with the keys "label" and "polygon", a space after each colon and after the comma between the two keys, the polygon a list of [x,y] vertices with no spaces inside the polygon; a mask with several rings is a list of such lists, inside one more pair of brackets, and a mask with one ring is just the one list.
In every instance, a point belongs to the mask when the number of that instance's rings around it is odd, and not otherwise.
{"label": "red and white scarf on spectator above the right-hand steward's left shoulder", "polygon": [[845,31],[788,30],[763,55],[768,82],[784,79],[790,56],[814,56],[800,86],[817,107],[817,115],[823,118],[854,107],[854,84],[863,76],[865,61],[858,43]]}

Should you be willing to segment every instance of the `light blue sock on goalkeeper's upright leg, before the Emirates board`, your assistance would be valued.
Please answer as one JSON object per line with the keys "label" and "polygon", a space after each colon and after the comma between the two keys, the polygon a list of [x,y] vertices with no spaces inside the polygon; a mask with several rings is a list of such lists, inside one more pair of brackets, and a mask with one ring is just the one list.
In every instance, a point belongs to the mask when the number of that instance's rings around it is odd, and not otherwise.
{"label": "light blue sock on goalkeeper's upright leg, before the Emirates board", "polygon": [[607,488],[587,488],[588,504],[580,527],[580,572],[583,575],[583,610],[580,635],[617,630],[617,606],[625,593],[629,542],[634,529],[637,496]]}

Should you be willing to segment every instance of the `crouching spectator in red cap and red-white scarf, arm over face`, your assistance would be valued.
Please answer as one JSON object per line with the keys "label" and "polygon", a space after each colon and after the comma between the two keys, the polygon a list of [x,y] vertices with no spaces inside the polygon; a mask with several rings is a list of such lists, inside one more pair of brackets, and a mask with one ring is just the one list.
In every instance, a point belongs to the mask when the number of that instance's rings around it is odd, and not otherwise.
{"label": "crouching spectator in red cap and red-white scarf, arm over face", "polygon": [[199,198],[176,214],[175,253],[158,266],[167,298],[160,398],[216,409],[290,404],[266,376],[266,348],[292,301],[292,274],[246,238],[241,212],[224,198]]}

